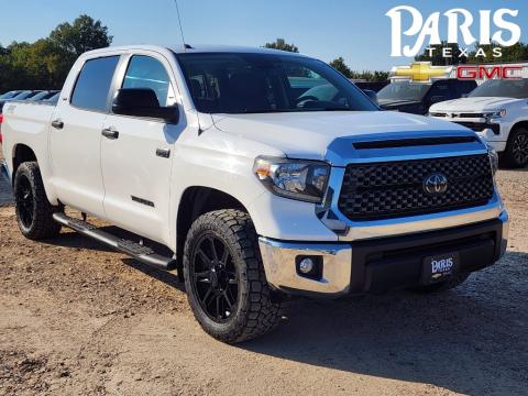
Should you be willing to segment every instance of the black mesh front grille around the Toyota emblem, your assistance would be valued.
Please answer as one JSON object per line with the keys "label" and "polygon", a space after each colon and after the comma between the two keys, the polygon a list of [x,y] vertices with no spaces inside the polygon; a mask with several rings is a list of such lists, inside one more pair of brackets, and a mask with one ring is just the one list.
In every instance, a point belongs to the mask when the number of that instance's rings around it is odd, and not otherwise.
{"label": "black mesh front grille around the Toyota emblem", "polygon": [[[424,180],[448,179],[444,194],[430,195]],[[484,155],[346,166],[339,209],[350,220],[383,220],[485,205],[494,193],[490,158]]]}

